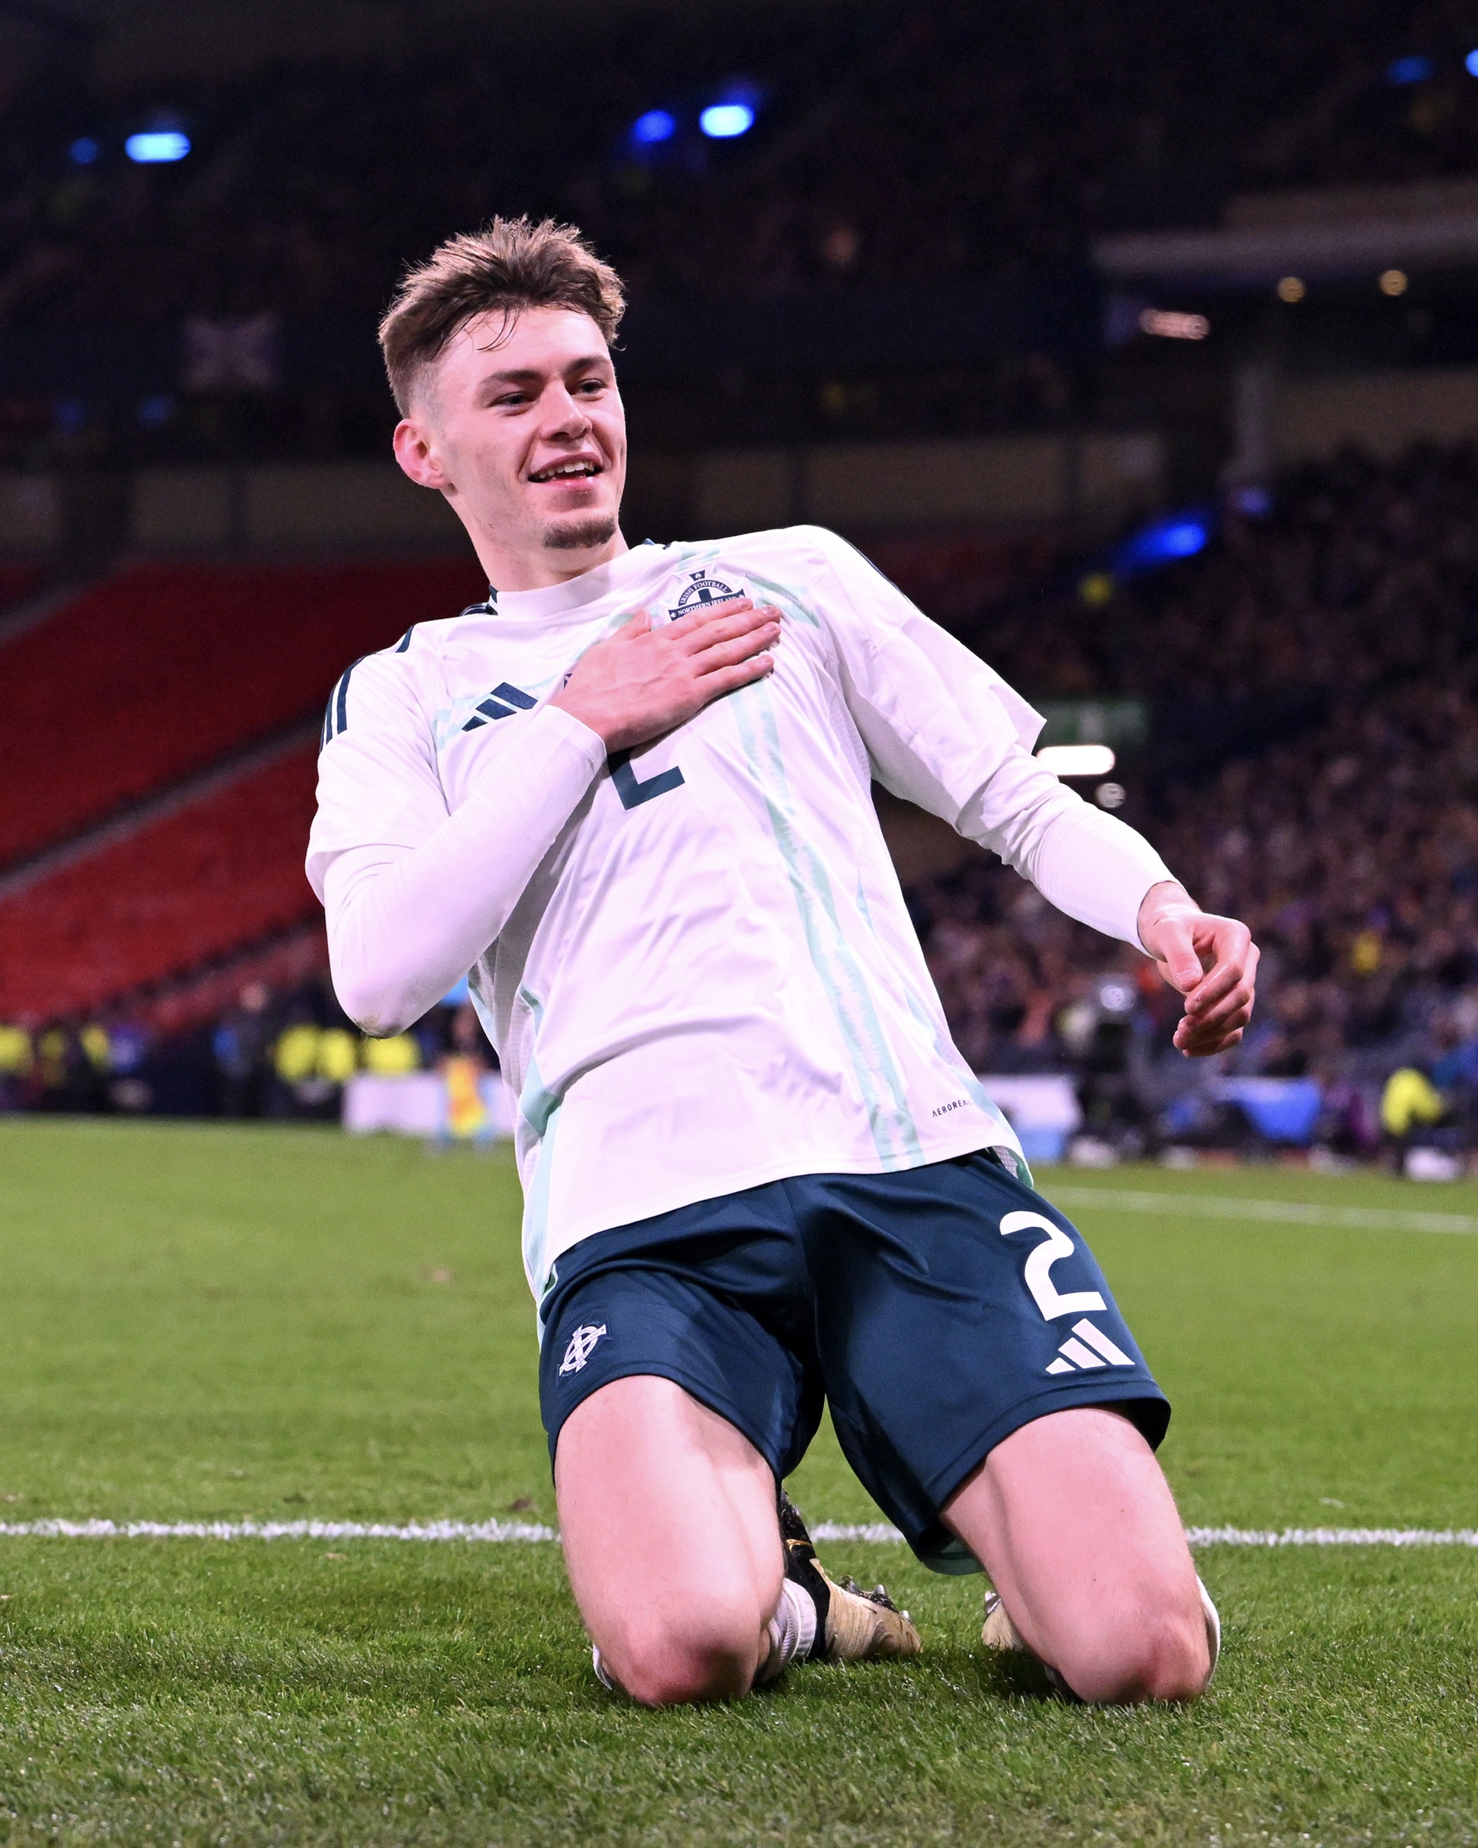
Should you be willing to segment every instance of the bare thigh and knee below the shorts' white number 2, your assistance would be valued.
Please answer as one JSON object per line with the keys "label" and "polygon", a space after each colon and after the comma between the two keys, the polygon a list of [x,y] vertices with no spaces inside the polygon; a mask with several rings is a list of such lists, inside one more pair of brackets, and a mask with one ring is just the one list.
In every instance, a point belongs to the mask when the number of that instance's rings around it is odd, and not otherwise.
{"label": "bare thigh and knee below the shorts' white number 2", "polygon": [[944,1508],[1024,1641],[1084,1700],[1184,1700],[1210,1672],[1169,1484],[1107,1406],[1033,1419]]}

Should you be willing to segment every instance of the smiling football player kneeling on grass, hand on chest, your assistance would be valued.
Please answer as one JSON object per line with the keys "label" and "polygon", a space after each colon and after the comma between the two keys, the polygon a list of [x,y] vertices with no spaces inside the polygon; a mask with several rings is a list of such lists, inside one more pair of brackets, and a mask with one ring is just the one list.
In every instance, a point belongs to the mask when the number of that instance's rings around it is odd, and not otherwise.
{"label": "smiling football player kneeling on grass, hand on chest", "polygon": [[1193,1696],[1216,1615],[1153,1456],[1169,1408],[950,1044],[870,782],[1155,957],[1184,1053],[1240,1039],[1256,950],[830,532],[628,549],[621,307],[527,220],[399,290],[395,455],[491,588],[338,682],[309,848],[355,1020],[395,1033],[471,968],[517,1092],[597,1669],[665,1704],[918,1647],[778,1514],[828,1399],[915,1552],[990,1574],[988,1643],[1084,1700]]}

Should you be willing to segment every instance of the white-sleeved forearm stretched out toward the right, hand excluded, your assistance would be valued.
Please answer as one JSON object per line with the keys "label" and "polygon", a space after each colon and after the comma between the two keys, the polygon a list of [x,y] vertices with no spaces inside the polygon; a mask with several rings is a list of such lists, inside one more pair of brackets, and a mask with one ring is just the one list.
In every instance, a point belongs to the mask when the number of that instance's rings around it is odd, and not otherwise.
{"label": "white-sleeved forearm stretched out toward the right, hand excluded", "polygon": [[1142,833],[1090,808],[1025,752],[966,804],[961,833],[992,848],[1068,917],[1144,948],[1145,893],[1173,874]]}

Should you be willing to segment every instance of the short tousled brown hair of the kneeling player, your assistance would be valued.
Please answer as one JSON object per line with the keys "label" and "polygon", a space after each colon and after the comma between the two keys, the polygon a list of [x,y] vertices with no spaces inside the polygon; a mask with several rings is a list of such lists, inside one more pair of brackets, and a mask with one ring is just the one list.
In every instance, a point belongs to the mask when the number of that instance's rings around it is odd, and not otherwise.
{"label": "short tousled brown hair of the kneeling player", "polygon": [[447,238],[408,270],[381,322],[381,351],[401,416],[416,381],[469,320],[503,309],[576,309],[606,346],[626,310],[621,277],[575,225],[543,218],[493,218],[480,231]]}

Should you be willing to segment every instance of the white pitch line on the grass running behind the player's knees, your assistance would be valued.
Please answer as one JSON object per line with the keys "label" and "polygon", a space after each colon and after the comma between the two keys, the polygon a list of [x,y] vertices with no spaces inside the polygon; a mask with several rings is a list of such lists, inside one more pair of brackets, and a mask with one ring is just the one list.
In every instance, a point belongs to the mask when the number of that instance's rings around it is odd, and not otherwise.
{"label": "white pitch line on the grass running behind the player's knees", "polygon": [[[820,1541],[902,1541],[887,1521],[818,1521]],[[552,1541],[558,1532],[532,1521],[0,1521],[17,1539],[467,1539],[493,1545]],[[1478,1528],[1432,1526],[1188,1526],[1192,1547],[1478,1547]]]}

